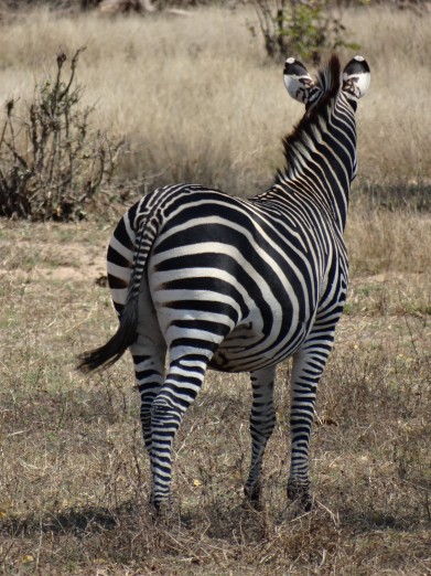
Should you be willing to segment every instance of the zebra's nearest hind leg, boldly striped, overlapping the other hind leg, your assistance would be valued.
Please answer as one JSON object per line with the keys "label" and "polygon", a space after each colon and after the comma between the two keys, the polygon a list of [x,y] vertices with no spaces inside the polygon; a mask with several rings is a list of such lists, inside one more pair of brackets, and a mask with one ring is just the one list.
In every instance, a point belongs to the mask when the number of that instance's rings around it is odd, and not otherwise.
{"label": "zebra's nearest hind leg, boldly striped, overlapping the other hind leg", "polygon": [[208,360],[198,354],[171,360],[166,380],[151,408],[152,502],[162,513],[171,504],[172,445],[181,420],[196,397]]}

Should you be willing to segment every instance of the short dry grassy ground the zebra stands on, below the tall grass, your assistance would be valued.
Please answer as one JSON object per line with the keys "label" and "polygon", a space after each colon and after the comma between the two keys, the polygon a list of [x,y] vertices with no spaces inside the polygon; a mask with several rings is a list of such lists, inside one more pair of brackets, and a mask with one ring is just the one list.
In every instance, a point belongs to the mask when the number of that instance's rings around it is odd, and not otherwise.
{"label": "short dry grassy ground the zebra stands on, below the tall grass", "polygon": [[[397,230],[395,250],[406,256],[389,266],[378,238],[360,254],[373,227]],[[74,354],[116,323],[98,282],[109,232],[100,223],[1,226],[1,569],[429,574],[429,217],[352,214],[351,296],[312,441],[315,510],[297,518],[287,505],[289,364],[278,375],[260,513],[241,508],[247,377],[209,373],[177,437],[169,529],[147,504],[131,362],[88,380],[74,372]]]}

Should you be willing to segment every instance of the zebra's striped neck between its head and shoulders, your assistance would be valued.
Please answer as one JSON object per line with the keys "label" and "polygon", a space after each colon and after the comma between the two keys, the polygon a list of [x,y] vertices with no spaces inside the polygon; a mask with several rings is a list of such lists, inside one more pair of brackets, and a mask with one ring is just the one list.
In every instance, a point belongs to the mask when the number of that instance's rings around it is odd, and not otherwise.
{"label": "zebra's striped neck between its head and shoulders", "polygon": [[354,110],[344,94],[322,100],[283,139],[287,166],[271,190],[287,199],[294,193],[304,202],[314,202],[343,231],[356,174]]}

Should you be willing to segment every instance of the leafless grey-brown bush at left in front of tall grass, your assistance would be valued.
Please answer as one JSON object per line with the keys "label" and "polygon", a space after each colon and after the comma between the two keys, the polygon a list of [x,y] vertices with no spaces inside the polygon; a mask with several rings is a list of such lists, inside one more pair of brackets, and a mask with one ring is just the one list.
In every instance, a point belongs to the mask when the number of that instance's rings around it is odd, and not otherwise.
{"label": "leafless grey-brown bush at left in front of tall grass", "polygon": [[64,77],[66,55],[56,56],[56,74],[36,85],[23,118],[15,100],[6,105],[0,134],[0,215],[32,220],[74,220],[109,181],[120,145],[91,131],[91,107],[79,108],[74,83],[79,49]]}

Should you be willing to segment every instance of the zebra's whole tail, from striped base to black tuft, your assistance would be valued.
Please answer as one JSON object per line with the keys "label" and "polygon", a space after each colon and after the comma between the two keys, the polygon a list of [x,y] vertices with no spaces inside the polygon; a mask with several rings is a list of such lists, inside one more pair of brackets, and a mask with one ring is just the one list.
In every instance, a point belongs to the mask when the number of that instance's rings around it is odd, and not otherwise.
{"label": "zebra's whole tail, from striped base to black tuft", "polygon": [[126,350],[134,343],[139,321],[139,290],[143,274],[147,269],[147,259],[155,239],[158,226],[149,214],[142,217],[136,237],[136,250],[133,254],[133,266],[129,282],[129,294],[121,310],[117,332],[106,344],[84,352],[78,356],[77,370],[84,373],[97,369],[111,366],[119,360]]}

